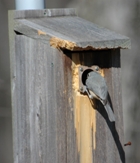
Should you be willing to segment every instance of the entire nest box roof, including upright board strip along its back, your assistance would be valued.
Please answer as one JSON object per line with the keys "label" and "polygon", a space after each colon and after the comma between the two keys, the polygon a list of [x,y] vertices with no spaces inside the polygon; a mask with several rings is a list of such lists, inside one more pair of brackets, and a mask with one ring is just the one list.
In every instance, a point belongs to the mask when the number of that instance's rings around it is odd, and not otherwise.
{"label": "entire nest box roof, including upright board strip along its back", "polygon": [[79,18],[74,9],[10,11],[17,33],[68,50],[130,48],[130,39]]}

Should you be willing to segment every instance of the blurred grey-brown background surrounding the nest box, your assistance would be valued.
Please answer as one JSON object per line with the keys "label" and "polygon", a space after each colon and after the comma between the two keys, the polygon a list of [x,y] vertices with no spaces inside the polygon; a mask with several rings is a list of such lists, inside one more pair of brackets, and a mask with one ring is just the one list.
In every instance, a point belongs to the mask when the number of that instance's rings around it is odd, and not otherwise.
{"label": "blurred grey-brown background surrounding the nest box", "polygon": [[[51,0],[46,8],[77,8],[89,21],[131,38],[131,50],[121,50],[126,163],[140,163],[140,0]],[[14,0],[0,0],[0,162],[12,163],[12,121],[8,10]]]}

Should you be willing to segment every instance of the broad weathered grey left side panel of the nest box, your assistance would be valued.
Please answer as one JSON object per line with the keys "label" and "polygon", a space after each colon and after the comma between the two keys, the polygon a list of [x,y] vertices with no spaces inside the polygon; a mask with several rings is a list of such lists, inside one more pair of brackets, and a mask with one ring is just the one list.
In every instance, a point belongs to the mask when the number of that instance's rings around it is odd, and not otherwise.
{"label": "broad weathered grey left side panel of the nest box", "polygon": [[77,162],[70,57],[15,35],[11,58],[14,162]]}

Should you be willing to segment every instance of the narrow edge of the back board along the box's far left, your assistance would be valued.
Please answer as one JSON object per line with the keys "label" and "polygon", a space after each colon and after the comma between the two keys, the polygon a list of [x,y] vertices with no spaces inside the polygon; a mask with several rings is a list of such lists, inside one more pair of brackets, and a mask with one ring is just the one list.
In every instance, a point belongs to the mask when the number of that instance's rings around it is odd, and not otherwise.
{"label": "narrow edge of the back board along the box's far left", "polygon": [[[17,107],[16,107],[16,91],[15,91],[15,33],[14,29],[14,14],[8,13],[8,25],[9,25],[9,45],[10,45],[10,75],[11,75],[11,107],[12,107],[12,132],[17,135]],[[13,136],[13,162],[18,163],[18,138]]]}

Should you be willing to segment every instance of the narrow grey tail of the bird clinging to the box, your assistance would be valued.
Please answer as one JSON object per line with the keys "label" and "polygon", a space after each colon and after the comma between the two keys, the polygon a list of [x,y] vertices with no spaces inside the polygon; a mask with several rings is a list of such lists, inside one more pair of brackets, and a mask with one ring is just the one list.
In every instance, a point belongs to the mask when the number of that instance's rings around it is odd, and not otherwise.
{"label": "narrow grey tail of the bird clinging to the box", "polygon": [[115,115],[114,115],[114,113],[113,113],[113,111],[112,111],[112,109],[111,109],[110,104],[109,104],[108,101],[107,101],[107,103],[104,105],[104,107],[105,107],[105,110],[106,110],[106,112],[107,112],[107,114],[108,114],[109,120],[110,120],[111,122],[115,122]]}

